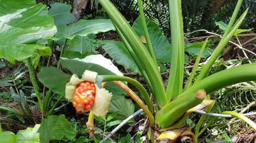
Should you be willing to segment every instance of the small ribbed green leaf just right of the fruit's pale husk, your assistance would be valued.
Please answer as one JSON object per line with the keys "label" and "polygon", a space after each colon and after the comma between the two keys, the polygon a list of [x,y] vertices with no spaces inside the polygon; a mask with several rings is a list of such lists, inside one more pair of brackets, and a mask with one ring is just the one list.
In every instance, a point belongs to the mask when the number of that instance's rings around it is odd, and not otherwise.
{"label": "small ribbed green leaf just right of the fruit's pale husk", "polygon": [[125,99],[125,96],[110,101],[110,113],[118,112],[115,120],[124,120],[134,113],[134,104],[131,99]]}

